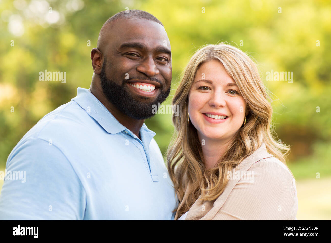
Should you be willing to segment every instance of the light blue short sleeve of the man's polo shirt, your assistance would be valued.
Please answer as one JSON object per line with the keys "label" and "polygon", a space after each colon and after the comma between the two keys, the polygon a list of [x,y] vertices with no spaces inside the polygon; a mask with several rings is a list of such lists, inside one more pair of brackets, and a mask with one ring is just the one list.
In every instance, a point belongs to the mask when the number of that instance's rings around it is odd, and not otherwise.
{"label": "light blue short sleeve of the man's polo shirt", "polygon": [[0,193],[0,220],[82,220],[84,188],[66,156],[31,138],[9,155]]}

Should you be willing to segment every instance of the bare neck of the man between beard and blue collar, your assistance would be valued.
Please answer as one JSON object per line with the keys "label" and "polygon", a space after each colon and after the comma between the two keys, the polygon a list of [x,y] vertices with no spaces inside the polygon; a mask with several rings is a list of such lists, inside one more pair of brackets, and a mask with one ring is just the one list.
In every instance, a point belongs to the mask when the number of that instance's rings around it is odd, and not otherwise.
{"label": "bare neck of the man between beard and blue collar", "polygon": [[105,94],[102,92],[101,87],[93,85],[93,80],[90,86],[90,92],[110,111],[110,113],[112,113],[120,124],[129,129],[140,139],[139,131],[145,120],[136,120],[120,112],[111,102],[108,101]]}

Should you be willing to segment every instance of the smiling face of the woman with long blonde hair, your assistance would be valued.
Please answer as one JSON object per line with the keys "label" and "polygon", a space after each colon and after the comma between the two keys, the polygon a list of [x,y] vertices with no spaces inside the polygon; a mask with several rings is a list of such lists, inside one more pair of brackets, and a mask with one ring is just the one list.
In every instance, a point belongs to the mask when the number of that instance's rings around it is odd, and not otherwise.
{"label": "smiling face of the woman with long blonde hair", "polygon": [[230,141],[244,123],[246,106],[234,80],[220,61],[200,65],[188,104],[190,121],[200,140]]}

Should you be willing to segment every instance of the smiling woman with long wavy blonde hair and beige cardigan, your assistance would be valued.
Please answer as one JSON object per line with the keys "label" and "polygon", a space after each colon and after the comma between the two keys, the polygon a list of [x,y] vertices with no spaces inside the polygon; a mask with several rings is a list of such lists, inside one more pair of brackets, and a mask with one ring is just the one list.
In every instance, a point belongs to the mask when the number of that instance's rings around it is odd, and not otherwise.
{"label": "smiling woman with long wavy blonde hair and beige cardigan", "polygon": [[269,99],[241,50],[220,43],[193,55],[172,101],[175,220],[296,220],[290,148],[273,137]]}

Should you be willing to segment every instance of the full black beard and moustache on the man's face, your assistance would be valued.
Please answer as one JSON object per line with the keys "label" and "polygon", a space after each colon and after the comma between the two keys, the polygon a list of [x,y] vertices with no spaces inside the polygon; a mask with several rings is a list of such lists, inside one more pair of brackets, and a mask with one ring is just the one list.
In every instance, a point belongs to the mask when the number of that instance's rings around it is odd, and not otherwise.
{"label": "full black beard and moustache on the man's face", "polygon": [[[105,73],[106,62],[107,61],[105,60],[102,65],[100,80],[101,80],[102,92],[105,94],[108,101],[111,102],[120,112],[133,119],[142,120],[154,116],[154,113],[152,112],[153,105],[158,106],[158,103],[161,104],[163,101],[165,101],[170,93],[170,88],[167,91],[163,91],[162,90],[163,85],[160,82],[158,82],[160,83],[161,86],[159,88],[160,89],[159,95],[155,99],[155,101],[150,103],[138,101],[134,99],[132,95],[126,90],[125,86],[127,85],[126,82],[128,80],[126,81],[123,80],[123,83],[121,85],[118,85],[111,79],[107,78]],[[141,78],[137,78],[137,79],[141,79]],[[153,79],[150,78],[150,80]]]}

